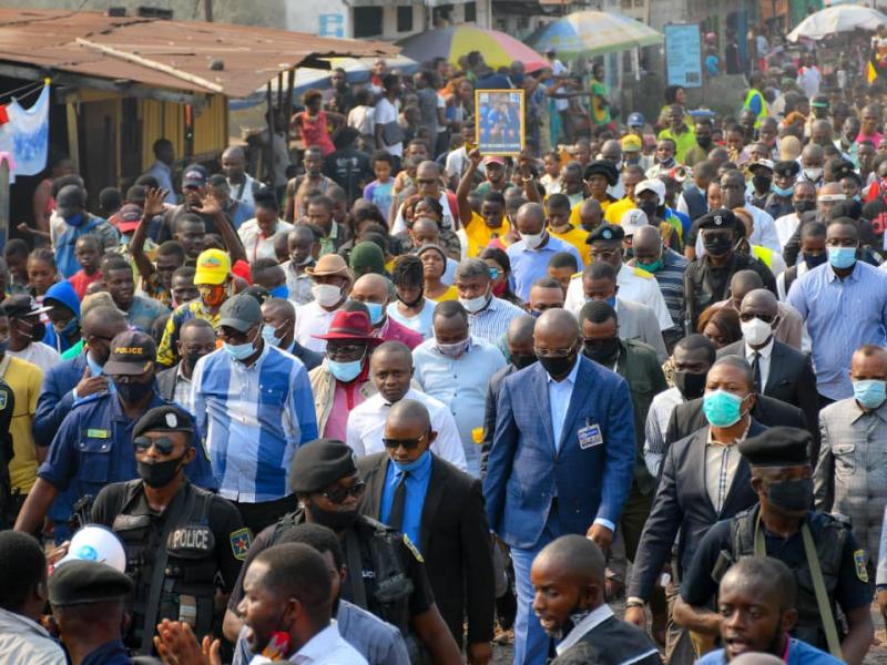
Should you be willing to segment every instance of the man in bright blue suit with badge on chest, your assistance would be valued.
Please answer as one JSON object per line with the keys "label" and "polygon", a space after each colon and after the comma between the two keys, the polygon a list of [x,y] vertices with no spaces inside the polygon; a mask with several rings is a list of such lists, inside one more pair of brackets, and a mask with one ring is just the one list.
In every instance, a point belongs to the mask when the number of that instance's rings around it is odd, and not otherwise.
{"label": "man in bright blue suit with badge on chest", "polygon": [[514,663],[542,664],[530,567],[548,543],[588,535],[606,550],[628,497],[634,415],[625,380],[583,357],[579,323],[549,309],[536,323],[539,362],[507,377],[483,481],[487,519],[511,548],[518,587]]}

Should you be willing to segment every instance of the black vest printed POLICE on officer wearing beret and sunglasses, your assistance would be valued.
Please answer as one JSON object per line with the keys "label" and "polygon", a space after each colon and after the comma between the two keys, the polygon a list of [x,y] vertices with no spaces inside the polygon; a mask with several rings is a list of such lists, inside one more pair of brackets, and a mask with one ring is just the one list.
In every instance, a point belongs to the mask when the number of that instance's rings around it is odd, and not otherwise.
{"label": "black vest printed POLICE on officer wearing beret and sunglasses", "polygon": [[[213,627],[213,597],[215,595],[215,535],[210,528],[210,508],[213,494],[196,492],[185,485],[183,491],[191,497],[184,502],[179,515],[169,529],[165,543],[161,543],[162,528],[151,515],[128,515],[125,511],[135,502],[140,480],[126,484],[123,507],[112,524],[113,531],[123,541],[126,550],[126,574],[135,587],[132,597],[133,622],[125,642],[137,647],[146,627],[146,604],[151,592],[157,552],[166,551],[163,590],[160,595],[157,622],[163,618],[191,624],[197,638],[208,634]],[[169,508],[167,508],[169,511]]]}

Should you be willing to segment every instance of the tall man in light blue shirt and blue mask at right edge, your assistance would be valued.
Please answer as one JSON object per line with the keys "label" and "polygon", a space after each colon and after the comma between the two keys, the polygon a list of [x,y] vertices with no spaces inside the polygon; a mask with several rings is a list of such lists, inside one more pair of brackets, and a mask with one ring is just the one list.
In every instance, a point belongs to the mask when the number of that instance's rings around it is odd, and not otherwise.
{"label": "tall man in light blue shirt and blue mask at right edge", "polygon": [[859,232],[852,219],[830,222],[825,244],[828,263],[788,290],[810,336],[822,407],[853,397],[848,370],[856,349],[887,346],[887,273],[857,260]]}

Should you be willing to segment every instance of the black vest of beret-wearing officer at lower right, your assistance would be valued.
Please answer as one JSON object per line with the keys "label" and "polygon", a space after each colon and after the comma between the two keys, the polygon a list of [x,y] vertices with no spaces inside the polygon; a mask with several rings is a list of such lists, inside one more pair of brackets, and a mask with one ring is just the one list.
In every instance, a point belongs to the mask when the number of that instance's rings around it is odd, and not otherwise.
{"label": "black vest of beret-wearing officer at lower right", "polygon": [[[825,521],[814,530],[810,526],[810,535],[816,543],[816,557],[823,570],[823,581],[825,582],[826,594],[832,603],[832,615],[835,612],[835,587],[840,575],[842,554],[844,543],[847,540],[848,525],[846,522],[833,515],[823,515]],[[751,508],[738,513],[731,522],[731,550],[733,560],[738,561],[743,556],[754,556],[755,549],[755,523],[757,521],[757,507]],[[816,592],[813,586],[813,575],[806,557],[804,562],[792,571],[797,582],[797,625],[793,635],[812,644],[825,652],[828,652],[825,631],[823,630],[822,617],[818,604],[816,603]],[[838,636],[843,638],[842,626],[837,626]]]}

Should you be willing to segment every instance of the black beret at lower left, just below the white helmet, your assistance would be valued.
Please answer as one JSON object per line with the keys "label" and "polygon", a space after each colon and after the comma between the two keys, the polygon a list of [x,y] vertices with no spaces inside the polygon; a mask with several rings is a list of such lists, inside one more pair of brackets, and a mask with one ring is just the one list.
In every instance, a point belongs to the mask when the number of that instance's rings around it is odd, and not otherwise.
{"label": "black beret at lower left, just below the white helmet", "polygon": [[49,602],[62,607],[123,598],[131,592],[129,576],[98,561],[69,561],[49,579]]}

